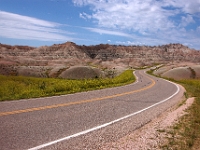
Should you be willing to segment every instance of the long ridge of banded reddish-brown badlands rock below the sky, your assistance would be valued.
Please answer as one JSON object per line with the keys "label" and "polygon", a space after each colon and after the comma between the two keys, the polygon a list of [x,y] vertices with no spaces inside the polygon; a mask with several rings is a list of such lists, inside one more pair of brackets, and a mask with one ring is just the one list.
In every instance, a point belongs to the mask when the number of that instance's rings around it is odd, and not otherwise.
{"label": "long ridge of banded reddish-brown badlands rock below the sky", "polygon": [[130,67],[179,62],[200,62],[200,51],[181,44],[80,46],[66,42],[41,47],[0,44],[0,74],[3,75],[67,78],[64,71],[72,66],[90,66],[105,72],[117,72]]}

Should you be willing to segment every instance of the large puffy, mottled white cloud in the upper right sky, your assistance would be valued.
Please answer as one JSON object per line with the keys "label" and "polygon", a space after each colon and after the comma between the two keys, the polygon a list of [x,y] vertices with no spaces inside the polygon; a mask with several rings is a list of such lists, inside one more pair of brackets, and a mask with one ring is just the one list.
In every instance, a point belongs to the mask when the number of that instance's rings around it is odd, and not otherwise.
{"label": "large puffy, mottled white cloud in the upper right sky", "polygon": [[182,16],[180,18],[182,22],[174,22],[171,18],[183,12],[200,13],[199,0],[73,0],[73,2],[79,6],[91,6],[92,13],[83,13],[81,17],[96,20],[99,27],[128,29],[140,33],[166,31],[175,28],[177,24],[186,26],[194,22],[191,15]]}

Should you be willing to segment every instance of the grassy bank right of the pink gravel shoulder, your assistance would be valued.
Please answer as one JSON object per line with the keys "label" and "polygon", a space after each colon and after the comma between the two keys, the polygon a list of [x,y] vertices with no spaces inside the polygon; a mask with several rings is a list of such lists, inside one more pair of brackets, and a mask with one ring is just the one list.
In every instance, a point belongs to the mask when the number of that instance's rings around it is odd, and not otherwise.
{"label": "grassy bank right of the pink gravel shoulder", "polygon": [[[149,73],[153,72],[149,71]],[[187,114],[168,131],[168,143],[161,148],[164,150],[197,150],[200,148],[200,80],[171,81],[183,85],[187,91],[186,98],[195,97],[195,102],[187,110]]]}

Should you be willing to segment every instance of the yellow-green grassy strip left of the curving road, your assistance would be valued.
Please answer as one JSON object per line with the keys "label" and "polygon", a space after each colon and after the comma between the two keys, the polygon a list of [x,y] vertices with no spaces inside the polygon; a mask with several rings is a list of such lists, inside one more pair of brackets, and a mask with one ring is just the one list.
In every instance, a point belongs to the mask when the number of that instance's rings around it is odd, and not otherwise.
{"label": "yellow-green grassy strip left of the curving road", "polygon": [[88,80],[33,78],[0,75],[0,101],[36,98],[121,86],[135,81],[133,70],[119,76]]}

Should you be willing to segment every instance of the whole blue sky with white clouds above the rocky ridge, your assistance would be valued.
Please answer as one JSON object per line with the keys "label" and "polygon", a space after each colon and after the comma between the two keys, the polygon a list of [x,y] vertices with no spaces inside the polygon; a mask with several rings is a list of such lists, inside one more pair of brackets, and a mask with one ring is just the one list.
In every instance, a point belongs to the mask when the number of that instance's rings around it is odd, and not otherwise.
{"label": "whole blue sky with white clouds above the rocky ridge", "polygon": [[0,0],[0,43],[67,41],[200,50],[200,0]]}

